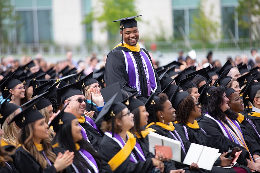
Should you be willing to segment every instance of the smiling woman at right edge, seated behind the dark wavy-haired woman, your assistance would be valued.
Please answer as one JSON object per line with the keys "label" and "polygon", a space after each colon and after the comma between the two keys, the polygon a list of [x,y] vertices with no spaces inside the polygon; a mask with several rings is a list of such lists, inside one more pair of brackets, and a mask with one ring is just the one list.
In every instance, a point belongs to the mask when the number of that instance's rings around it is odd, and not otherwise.
{"label": "smiling woman at right edge, seated behind the dark wavy-haired woman", "polygon": [[[243,100],[239,97],[239,93],[233,88],[226,88],[226,96],[229,99],[228,105],[232,112],[234,112],[234,117],[239,123],[241,123],[241,129],[244,133],[250,133],[250,138],[254,138],[258,146],[260,145],[260,128],[255,122],[255,119],[248,114],[241,114],[239,112],[244,111]],[[243,128],[244,127],[244,128]]]}

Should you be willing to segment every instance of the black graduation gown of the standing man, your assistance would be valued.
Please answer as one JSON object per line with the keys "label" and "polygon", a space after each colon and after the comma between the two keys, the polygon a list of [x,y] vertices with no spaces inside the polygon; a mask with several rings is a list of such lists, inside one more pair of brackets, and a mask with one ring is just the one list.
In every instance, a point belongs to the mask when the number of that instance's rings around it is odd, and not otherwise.
{"label": "black graduation gown of the standing man", "polygon": [[[120,50],[117,50],[117,49],[120,49]],[[132,52],[128,48],[120,47],[120,46],[117,47],[116,49],[112,50],[111,52],[109,52],[109,54],[107,55],[107,62],[106,62],[106,68],[105,68],[105,83],[107,84],[107,86],[114,84],[116,82],[119,82],[120,86],[124,86],[124,84],[127,83],[127,85],[124,87],[124,90],[134,93],[136,90],[132,89],[128,85],[128,74],[126,71],[125,58],[124,58],[124,55],[121,50],[124,50],[127,52]],[[149,53],[145,49],[142,49],[142,50],[149,56],[150,61],[152,62]],[[148,98],[147,80],[145,77],[145,72],[143,69],[140,52],[132,52],[132,53],[133,53],[133,57],[135,58],[136,64],[138,66],[141,95],[142,95],[142,97]],[[154,69],[154,71],[155,71],[155,69]],[[158,86],[158,88],[155,91],[155,94],[158,94],[161,92],[161,84],[160,84],[159,77],[156,72],[155,72],[155,78],[156,78],[156,82],[157,82],[157,86]],[[142,99],[142,98],[138,98],[138,99]]]}

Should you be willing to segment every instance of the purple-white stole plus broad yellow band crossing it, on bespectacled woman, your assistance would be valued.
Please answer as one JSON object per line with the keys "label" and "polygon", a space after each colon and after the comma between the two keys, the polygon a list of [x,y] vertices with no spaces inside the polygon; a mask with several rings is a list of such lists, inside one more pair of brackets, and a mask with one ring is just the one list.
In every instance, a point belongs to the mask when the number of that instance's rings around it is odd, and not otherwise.
{"label": "purple-white stole plus broad yellow band crossing it, on bespectacled woman", "polygon": [[137,154],[138,154],[138,159],[141,161],[145,161],[145,156],[142,151],[142,148],[140,145],[136,142],[136,138],[133,136],[132,133],[127,132],[127,137],[128,140],[125,142],[120,135],[117,133],[114,133],[114,137],[112,137],[111,132],[105,132],[105,135],[107,135],[109,138],[112,138],[115,142],[118,143],[118,145],[121,147],[121,150],[112,157],[107,163],[110,165],[110,168],[112,171],[116,170],[118,166],[120,166],[129,155],[130,161],[133,163],[137,163],[137,159],[135,158],[135,155],[133,154],[132,150],[135,148]]}

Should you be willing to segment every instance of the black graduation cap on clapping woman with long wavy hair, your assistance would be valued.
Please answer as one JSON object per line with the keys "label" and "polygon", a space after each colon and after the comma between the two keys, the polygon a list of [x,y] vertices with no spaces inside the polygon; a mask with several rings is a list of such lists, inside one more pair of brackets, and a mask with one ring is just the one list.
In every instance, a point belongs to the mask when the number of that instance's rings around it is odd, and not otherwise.
{"label": "black graduation cap on clapping woman with long wavy hair", "polygon": [[15,121],[16,125],[22,128],[27,124],[33,123],[39,119],[44,118],[43,115],[35,108],[34,105],[36,104],[36,102],[38,102],[38,100],[27,106],[25,110],[23,110],[23,112],[14,116],[14,118],[10,121],[9,124]]}

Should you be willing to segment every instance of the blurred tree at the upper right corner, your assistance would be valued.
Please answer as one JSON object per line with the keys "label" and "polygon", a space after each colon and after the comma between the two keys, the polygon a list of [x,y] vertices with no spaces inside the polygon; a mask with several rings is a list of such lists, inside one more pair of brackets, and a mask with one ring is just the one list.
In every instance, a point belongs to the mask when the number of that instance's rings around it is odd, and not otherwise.
{"label": "blurred tree at the upper right corner", "polygon": [[260,39],[260,0],[240,0],[236,8],[238,25],[242,29],[248,29],[250,47],[252,48],[252,37]]}

